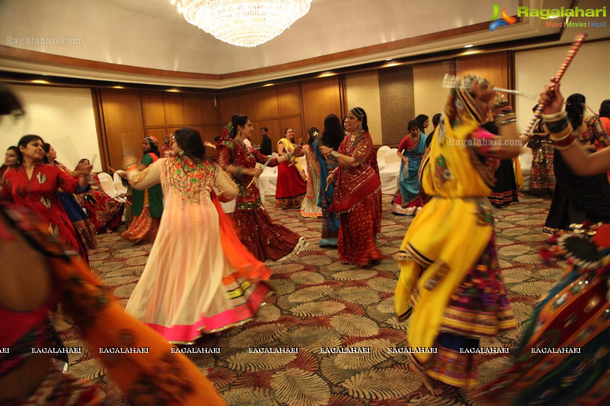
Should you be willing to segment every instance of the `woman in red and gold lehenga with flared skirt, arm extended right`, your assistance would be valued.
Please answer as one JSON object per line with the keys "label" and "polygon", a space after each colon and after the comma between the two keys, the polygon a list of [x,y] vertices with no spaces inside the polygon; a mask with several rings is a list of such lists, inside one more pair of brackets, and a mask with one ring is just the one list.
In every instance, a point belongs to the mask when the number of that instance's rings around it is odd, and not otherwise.
{"label": "woman in red and gold lehenga with flared skirt, arm extended right", "polygon": [[[248,116],[235,115],[231,124],[223,131],[217,148],[217,163],[231,174],[239,189],[235,211],[229,213],[241,229],[240,239],[248,251],[259,261],[273,259],[277,261],[301,247],[301,237],[282,225],[273,223],[267,211],[260,205],[259,188],[252,182],[262,173],[256,163],[274,167],[289,161],[291,153],[278,158],[262,155],[257,150],[250,150],[243,144],[254,132]],[[300,153],[300,147],[296,147]]]}

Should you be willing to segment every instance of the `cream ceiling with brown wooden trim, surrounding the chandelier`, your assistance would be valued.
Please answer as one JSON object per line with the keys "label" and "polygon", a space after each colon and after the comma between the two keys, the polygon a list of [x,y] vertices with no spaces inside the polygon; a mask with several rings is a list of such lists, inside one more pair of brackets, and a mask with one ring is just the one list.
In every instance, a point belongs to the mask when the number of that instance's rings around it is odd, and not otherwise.
{"label": "cream ceiling with brown wooden trim, surrounding the chandelier", "polygon": [[[540,46],[537,37],[561,32],[545,26],[545,21],[561,19],[534,17],[490,32],[493,2],[314,0],[309,13],[279,37],[245,48],[223,43],[188,24],[170,0],[2,0],[0,69],[220,89],[387,58],[464,49],[467,44],[531,38],[532,44]],[[606,0],[582,0],[578,7],[595,9],[606,4]],[[511,15],[517,14],[520,5],[569,8],[572,1],[500,3]],[[569,43],[581,31],[565,29],[560,40],[544,45]],[[586,31],[589,39],[610,37],[610,27]],[[11,41],[77,38],[80,44],[20,46],[7,44],[9,37]]]}

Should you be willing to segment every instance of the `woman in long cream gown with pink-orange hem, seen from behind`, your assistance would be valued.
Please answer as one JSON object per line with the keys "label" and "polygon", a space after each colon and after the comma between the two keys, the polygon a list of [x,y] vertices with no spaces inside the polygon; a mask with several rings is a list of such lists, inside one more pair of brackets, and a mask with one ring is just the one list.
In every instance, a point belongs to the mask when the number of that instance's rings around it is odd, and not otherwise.
{"label": "woman in long cream gown with pink-orange hem, seen from behind", "polygon": [[127,172],[134,190],[161,184],[166,206],[125,310],[171,343],[193,344],[252,320],[270,292],[257,282],[271,270],[240,243],[220,208],[219,200],[234,199],[237,189],[206,159],[199,131],[181,128],[175,136],[173,158]]}

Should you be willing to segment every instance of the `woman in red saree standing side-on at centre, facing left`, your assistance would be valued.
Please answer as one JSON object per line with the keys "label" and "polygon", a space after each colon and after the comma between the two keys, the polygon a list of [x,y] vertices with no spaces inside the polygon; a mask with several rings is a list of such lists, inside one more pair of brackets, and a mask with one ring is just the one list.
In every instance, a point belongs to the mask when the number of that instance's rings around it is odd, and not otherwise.
{"label": "woman in red saree standing side-on at centre, facing left", "polygon": [[336,177],[334,201],[330,211],[339,214],[339,259],[343,264],[368,266],[381,259],[375,245],[381,231],[381,180],[373,140],[368,133],[367,114],[360,107],[351,109],[346,118],[349,136],[339,152],[320,146],[320,152],[337,159],[327,183]]}

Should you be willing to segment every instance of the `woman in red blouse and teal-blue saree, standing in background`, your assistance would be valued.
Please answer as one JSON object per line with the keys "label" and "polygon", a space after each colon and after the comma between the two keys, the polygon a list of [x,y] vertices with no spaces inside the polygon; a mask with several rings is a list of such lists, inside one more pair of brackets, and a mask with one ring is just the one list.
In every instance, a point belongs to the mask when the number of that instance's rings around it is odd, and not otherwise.
{"label": "woman in red blouse and teal-blue saree, standing in background", "polygon": [[420,131],[417,121],[409,121],[409,135],[398,145],[401,158],[400,178],[394,198],[392,214],[415,215],[422,209],[423,201],[419,195],[419,168],[422,155],[426,150],[426,136]]}

